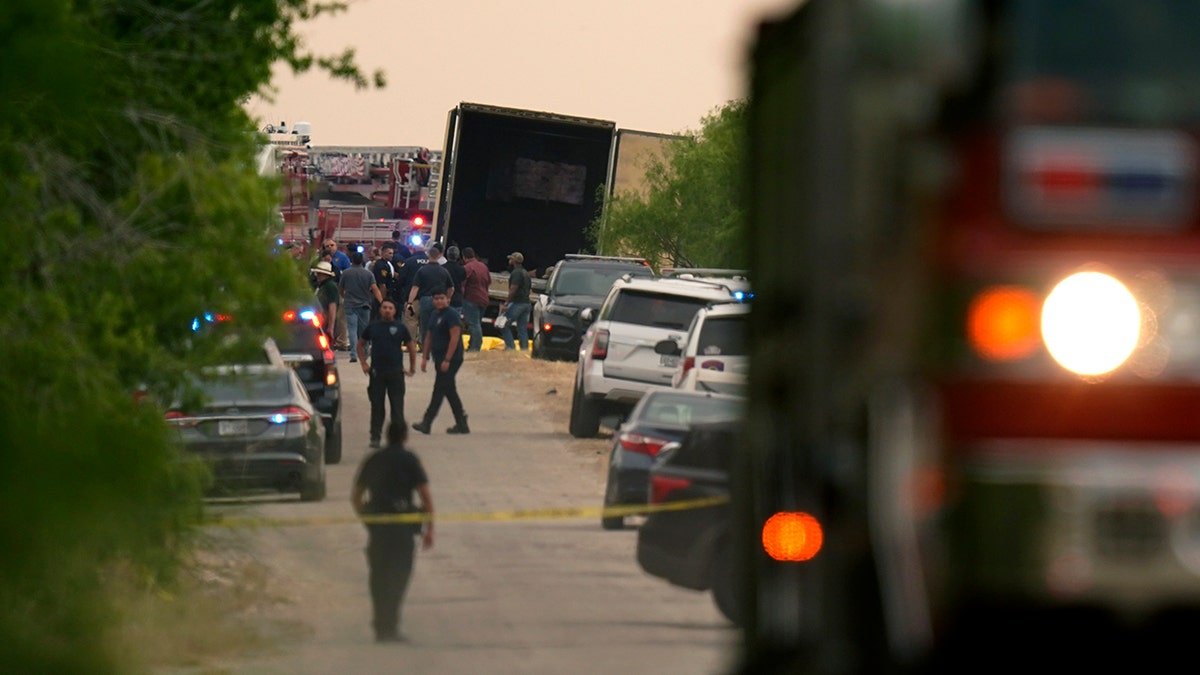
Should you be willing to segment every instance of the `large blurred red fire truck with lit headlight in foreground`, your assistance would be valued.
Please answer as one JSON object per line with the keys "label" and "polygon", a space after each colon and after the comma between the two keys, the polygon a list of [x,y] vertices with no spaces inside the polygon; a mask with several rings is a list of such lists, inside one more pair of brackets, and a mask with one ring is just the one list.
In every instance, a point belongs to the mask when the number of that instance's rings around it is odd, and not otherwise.
{"label": "large blurred red fire truck with lit headlight in foreground", "polygon": [[744,671],[1190,656],[1198,19],[808,0],[760,26]]}

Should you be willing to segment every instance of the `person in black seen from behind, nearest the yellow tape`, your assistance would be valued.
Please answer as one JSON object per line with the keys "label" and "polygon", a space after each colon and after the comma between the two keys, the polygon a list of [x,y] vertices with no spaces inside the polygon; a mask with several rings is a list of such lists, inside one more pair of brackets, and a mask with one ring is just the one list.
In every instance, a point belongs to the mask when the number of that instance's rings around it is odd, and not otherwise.
{"label": "person in black seen from behind, nearest the yellow tape", "polygon": [[[407,440],[408,428],[394,419],[388,425],[388,447],[362,460],[350,489],[354,513],[364,516],[367,528],[367,587],[377,643],[404,641],[401,607],[413,578],[416,536],[421,534],[424,550],[433,548],[430,478],[421,459],[404,447]],[[413,492],[420,497],[419,504]],[[416,513],[422,522],[388,521],[390,515]]]}

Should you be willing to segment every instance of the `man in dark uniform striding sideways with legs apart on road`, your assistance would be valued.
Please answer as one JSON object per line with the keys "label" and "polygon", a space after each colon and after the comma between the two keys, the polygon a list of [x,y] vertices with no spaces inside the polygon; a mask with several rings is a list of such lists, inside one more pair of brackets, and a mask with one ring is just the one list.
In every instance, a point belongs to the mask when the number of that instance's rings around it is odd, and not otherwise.
{"label": "man in dark uniform striding sideways with legs apart on road", "polygon": [[454,413],[455,424],[446,429],[446,434],[470,434],[467,426],[467,412],[462,408],[462,399],[458,398],[458,384],[455,377],[462,368],[462,317],[450,307],[450,294],[446,288],[433,289],[433,317],[430,318],[430,327],[425,333],[424,345],[427,350],[421,351],[421,372],[425,372],[430,356],[433,356],[433,395],[430,398],[430,407],[425,408],[425,416],[420,422],[413,423],[413,429],[421,434],[428,434],[433,425],[433,419],[442,410],[442,400],[450,402],[450,411]]}

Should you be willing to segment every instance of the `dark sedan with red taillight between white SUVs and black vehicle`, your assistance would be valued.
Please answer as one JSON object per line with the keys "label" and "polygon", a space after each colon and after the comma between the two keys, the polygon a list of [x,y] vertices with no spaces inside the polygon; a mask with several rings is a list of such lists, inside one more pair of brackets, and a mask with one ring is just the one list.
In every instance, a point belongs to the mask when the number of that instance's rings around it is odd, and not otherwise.
{"label": "dark sedan with red taillight between white SUVs and black vehicle", "polygon": [[[604,506],[648,503],[649,471],[659,449],[683,438],[695,423],[740,418],[744,402],[740,396],[701,392],[647,392],[613,434]],[[625,515],[605,513],[600,524],[605,530],[619,530],[625,526]]]}

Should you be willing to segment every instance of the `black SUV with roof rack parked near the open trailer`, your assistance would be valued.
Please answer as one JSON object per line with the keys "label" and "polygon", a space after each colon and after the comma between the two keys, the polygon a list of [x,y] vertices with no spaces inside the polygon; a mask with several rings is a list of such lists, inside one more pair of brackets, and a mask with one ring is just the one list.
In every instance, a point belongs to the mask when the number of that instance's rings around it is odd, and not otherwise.
{"label": "black SUV with roof rack parked near the open trailer", "polygon": [[576,359],[612,282],[622,276],[654,276],[644,258],[568,255],[554,265],[546,292],[533,305],[533,352],[541,359]]}

